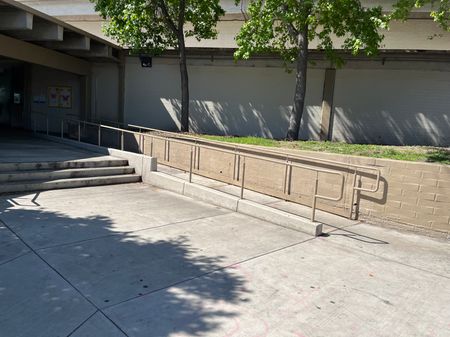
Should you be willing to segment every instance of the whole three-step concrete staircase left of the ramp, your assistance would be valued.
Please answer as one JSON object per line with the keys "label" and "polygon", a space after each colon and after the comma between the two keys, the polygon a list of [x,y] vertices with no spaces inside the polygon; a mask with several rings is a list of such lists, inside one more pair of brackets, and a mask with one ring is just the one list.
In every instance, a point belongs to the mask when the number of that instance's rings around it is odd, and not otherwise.
{"label": "whole three-step concrete staircase left of the ramp", "polygon": [[123,159],[0,163],[0,194],[141,181]]}

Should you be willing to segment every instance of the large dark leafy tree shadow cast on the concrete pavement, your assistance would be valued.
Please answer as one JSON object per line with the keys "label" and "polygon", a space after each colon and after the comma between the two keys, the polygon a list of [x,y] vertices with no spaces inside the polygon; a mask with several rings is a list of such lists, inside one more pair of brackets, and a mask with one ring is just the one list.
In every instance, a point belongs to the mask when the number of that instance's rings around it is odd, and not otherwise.
{"label": "large dark leafy tree shadow cast on the concrete pavement", "polygon": [[[248,293],[244,277],[233,268],[224,268],[224,256],[194,247],[188,235],[165,235],[155,229],[118,232],[108,216],[78,217],[50,211],[36,198],[25,206],[0,198],[0,220],[129,336],[212,334],[237,315],[233,307],[245,301]],[[0,298],[20,292],[22,287],[20,281],[7,280],[14,276],[4,275],[3,267],[0,275],[6,279],[0,277]],[[51,269],[48,272],[53,273]],[[64,326],[65,317],[72,315],[66,302],[58,296],[46,302],[43,294],[48,285],[39,288],[40,283],[35,284],[34,298],[23,303],[28,305],[27,312],[46,316],[41,318],[50,325],[60,320],[57,324]],[[0,304],[0,312],[4,310],[8,309]],[[78,326],[66,324],[64,329],[70,327],[73,333],[88,317],[80,319]],[[20,331],[24,319],[28,317],[9,317],[4,331],[12,335]],[[33,320],[27,324],[33,325]],[[66,334],[64,329],[57,331],[58,335]]]}

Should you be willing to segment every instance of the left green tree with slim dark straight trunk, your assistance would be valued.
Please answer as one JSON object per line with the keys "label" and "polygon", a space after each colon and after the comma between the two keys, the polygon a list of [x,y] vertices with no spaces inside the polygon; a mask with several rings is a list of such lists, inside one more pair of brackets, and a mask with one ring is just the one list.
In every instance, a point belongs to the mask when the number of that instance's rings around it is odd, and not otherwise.
{"label": "left green tree with slim dark straight trunk", "polygon": [[105,32],[135,53],[158,55],[174,48],[181,75],[181,131],[189,131],[189,80],[185,38],[217,37],[224,10],[219,0],[91,0],[107,20]]}

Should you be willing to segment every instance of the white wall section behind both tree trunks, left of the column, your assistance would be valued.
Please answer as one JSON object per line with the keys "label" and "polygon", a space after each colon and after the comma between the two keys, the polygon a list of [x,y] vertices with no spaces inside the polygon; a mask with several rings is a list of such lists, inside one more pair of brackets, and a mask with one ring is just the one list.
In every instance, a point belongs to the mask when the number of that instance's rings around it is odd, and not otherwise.
{"label": "white wall section behind both tree trunks, left of the column", "polygon": [[[282,67],[189,65],[192,131],[283,138],[295,88],[294,74]],[[318,138],[324,70],[308,73],[301,138]],[[180,75],[176,62],[154,59],[141,68],[126,65],[125,120],[175,130],[179,126]]]}

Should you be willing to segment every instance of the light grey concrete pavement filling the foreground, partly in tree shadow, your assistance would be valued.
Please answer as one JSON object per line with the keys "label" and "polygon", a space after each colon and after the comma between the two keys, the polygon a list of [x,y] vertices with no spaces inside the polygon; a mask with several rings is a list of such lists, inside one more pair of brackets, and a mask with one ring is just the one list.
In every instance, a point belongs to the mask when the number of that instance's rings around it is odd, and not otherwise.
{"label": "light grey concrete pavement filling the foreground, partly in tree shadow", "polygon": [[2,337],[450,335],[448,241],[144,184],[3,196],[0,220]]}

